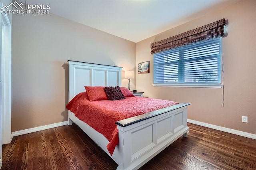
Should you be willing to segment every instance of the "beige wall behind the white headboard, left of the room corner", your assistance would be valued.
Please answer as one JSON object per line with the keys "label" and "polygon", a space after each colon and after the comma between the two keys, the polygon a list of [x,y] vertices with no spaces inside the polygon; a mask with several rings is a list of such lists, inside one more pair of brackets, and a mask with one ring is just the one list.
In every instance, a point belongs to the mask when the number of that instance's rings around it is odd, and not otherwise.
{"label": "beige wall behind the white headboard, left of the room corner", "polygon": [[68,120],[67,60],[135,70],[133,42],[54,14],[14,14],[12,20],[12,132]]}

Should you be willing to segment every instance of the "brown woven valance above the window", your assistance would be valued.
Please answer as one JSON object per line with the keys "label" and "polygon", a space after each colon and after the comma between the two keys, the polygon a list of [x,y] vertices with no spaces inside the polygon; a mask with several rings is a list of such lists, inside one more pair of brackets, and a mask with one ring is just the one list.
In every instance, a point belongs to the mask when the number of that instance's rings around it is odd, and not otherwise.
{"label": "brown woven valance above the window", "polygon": [[224,37],[224,25],[226,25],[226,21],[223,18],[222,20],[184,32],[177,36],[154,42],[151,44],[151,53],[154,54],[167,49]]}

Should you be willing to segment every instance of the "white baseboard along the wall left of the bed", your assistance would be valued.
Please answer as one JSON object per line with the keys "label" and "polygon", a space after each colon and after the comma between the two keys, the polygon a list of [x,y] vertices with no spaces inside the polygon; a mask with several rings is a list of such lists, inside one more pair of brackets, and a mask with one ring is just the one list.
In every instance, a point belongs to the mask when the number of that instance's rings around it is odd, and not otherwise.
{"label": "white baseboard along the wall left of the bed", "polygon": [[40,130],[45,130],[48,128],[54,128],[54,127],[60,127],[60,126],[64,126],[64,125],[68,125],[68,121],[64,121],[64,122],[60,122],[60,123],[54,123],[51,125],[44,125],[41,127],[34,127],[34,128],[28,128],[28,129],[24,129],[24,130],[18,130],[16,132],[12,132],[12,136],[19,136],[22,134],[28,134],[28,133],[32,133],[32,132],[37,132]]}

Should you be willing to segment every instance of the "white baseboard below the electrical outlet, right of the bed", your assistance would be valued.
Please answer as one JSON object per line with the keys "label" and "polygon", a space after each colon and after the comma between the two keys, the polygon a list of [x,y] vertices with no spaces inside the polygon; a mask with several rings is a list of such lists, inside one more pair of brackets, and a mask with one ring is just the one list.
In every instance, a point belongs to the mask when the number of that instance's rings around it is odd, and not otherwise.
{"label": "white baseboard below the electrical outlet, right of the bed", "polygon": [[213,129],[220,130],[220,131],[223,131],[223,132],[228,132],[228,133],[236,134],[236,135],[239,135],[239,136],[244,136],[244,137],[247,137],[247,138],[256,139],[256,134],[252,134],[252,133],[248,133],[248,132],[243,132],[243,131],[234,130],[234,129],[231,129],[231,128],[225,128],[225,127],[220,127],[220,126],[216,126],[216,125],[211,125],[211,124],[208,124],[208,123],[194,121],[194,120],[191,120],[191,119],[188,119],[188,123],[193,123],[195,125],[200,125],[202,127],[213,128]]}

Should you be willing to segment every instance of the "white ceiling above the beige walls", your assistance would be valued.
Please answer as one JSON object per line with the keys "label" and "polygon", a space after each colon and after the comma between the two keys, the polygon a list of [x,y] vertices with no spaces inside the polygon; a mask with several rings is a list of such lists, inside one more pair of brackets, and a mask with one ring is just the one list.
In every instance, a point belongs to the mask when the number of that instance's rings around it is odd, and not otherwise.
{"label": "white ceiling above the beige walls", "polygon": [[53,14],[139,42],[238,1],[26,0],[26,4],[50,4]]}

